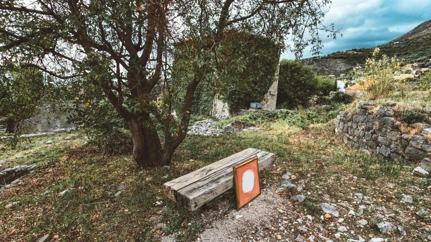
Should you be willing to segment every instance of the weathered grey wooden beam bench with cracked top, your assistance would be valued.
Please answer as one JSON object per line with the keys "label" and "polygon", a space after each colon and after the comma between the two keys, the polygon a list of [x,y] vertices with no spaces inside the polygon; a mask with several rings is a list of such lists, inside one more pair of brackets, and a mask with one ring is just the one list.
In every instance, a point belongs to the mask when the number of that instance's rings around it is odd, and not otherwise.
{"label": "weathered grey wooden beam bench with cracked top", "polygon": [[218,195],[233,188],[233,166],[258,157],[259,170],[274,162],[274,154],[248,148],[164,184],[165,195],[194,211]]}

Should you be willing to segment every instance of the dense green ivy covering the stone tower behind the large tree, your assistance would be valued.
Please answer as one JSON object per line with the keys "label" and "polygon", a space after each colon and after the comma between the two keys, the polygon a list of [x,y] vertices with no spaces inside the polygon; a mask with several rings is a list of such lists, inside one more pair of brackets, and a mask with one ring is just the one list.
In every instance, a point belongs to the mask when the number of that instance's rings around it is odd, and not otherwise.
{"label": "dense green ivy covering the stone tower behind the large tree", "polygon": [[[231,30],[225,32],[220,47],[226,53],[223,62],[218,63],[218,68],[223,70],[201,81],[195,92],[193,114],[211,116],[216,96],[227,103],[230,113],[249,108],[251,102],[264,100],[274,82],[281,52],[279,44],[262,36]],[[175,78],[186,78],[181,71],[174,68],[174,82]]]}

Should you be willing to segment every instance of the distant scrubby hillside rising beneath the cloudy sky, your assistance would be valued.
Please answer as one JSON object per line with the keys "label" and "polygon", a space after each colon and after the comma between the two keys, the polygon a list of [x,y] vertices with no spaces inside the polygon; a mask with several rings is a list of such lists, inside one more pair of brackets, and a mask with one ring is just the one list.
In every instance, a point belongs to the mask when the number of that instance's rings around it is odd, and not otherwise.
{"label": "distant scrubby hillside rising beneath the cloudy sky", "polygon": [[[417,63],[419,68],[431,67],[431,20],[418,25],[399,38],[378,46],[380,54],[397,56],[399,61]],[[363,65],[374,48],[338,51],[323,57],[303,59],[302,62],[319,74],[337,74],[350,72],[358,64]]]}

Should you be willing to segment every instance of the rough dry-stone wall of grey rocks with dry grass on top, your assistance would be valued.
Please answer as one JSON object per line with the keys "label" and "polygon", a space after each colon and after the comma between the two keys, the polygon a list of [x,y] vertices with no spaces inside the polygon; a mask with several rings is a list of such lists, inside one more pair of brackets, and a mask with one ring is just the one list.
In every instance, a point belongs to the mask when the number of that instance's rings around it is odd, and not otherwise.
{"label": "rough dry-stone wall of grey rocks with dry grass on top", "polygon": [[[423,129],[422,135],[410,137],[401,132],[393,114],[391,108],[375,110],[374,104],[359,102],[355,112],[341,111],[337,116],[336,133],[345,144],[377,157],[413,161],[429,158],[431,144],[423,134],[431,134],[431,129]],[[426,128],[426,124],[419,125]]]}

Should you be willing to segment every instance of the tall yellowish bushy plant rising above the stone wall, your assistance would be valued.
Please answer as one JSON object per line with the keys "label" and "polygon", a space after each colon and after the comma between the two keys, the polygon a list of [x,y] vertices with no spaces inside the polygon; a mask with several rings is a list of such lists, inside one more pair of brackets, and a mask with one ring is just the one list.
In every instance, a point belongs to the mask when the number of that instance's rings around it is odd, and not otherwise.
{"label": "tall yellowish bushy plant rising above the stone wall", "polygon": [[391,60],[386,54],[378,58],[380,49],[375,48],[365,66],[358,65],[354,69],[356,82],[362,86],[361,94],[367,100],[375,100],[391,96],[394,91],[394,73],[400,71],[401,65],[396,56]]}

